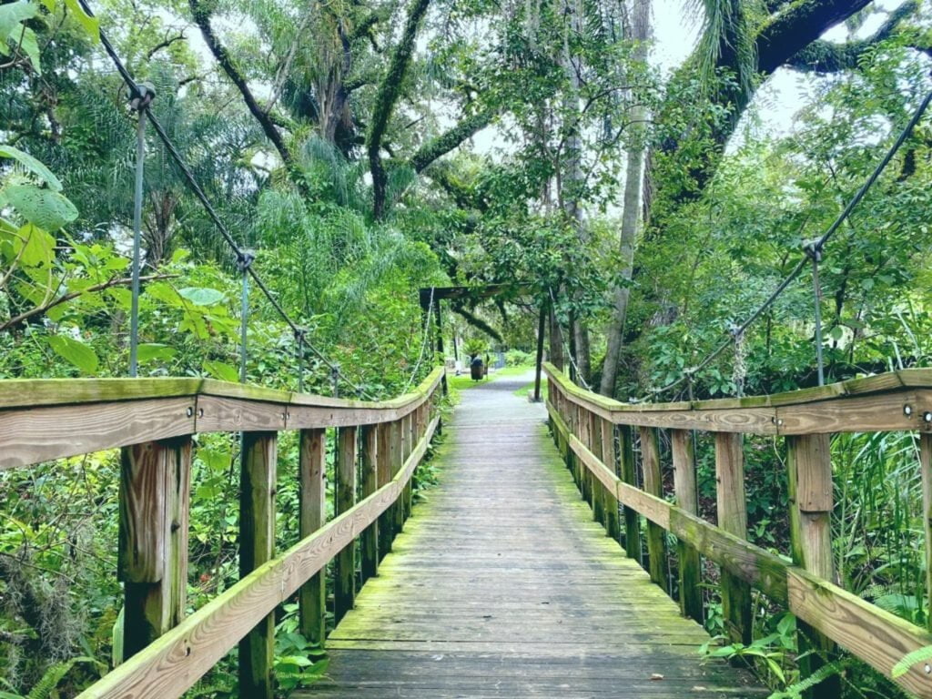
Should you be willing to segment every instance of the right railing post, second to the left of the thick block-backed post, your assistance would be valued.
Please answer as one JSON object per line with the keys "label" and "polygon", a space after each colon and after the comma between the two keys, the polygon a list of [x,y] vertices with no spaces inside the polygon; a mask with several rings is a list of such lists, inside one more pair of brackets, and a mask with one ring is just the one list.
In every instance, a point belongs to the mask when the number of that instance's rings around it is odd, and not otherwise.
{"label": "right railing post, second to the left of the thick block-backed post", "polygon": [[[692,453],[692,434],[687,430],[670,431],[670,449],[673,452],[673,487],[677,507],[689,514],[699,514],[696,495],[696,464]],[[699,552],[685,541],[677,541],[679,569],[679,611],[683,616],[702,624],[703,617],[702,564]]]}

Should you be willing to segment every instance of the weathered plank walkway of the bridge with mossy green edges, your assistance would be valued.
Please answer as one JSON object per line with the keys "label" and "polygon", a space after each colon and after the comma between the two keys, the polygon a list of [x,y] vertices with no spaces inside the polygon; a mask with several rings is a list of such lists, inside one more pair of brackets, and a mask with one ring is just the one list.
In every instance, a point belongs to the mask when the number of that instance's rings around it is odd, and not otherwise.
{"label": "weathered plank walkway of the bridge with mossy green edges", "polygon": [[463,391],[441,485],[327,642],[305,699],[760,697],[592,521],[540,404]]}

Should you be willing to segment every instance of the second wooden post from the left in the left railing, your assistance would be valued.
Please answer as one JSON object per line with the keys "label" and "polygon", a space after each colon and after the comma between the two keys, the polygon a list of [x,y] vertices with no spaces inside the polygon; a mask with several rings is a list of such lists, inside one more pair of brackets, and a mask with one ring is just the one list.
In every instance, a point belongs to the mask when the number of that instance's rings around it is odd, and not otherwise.
{"label": "second wooden post from the left in the left railing", "polygon": [[[269,560],[275,548],[275,432],[242,433],[240,471],[240,578]],[[275,613],[240,640],[240,695],[272,699]]]}

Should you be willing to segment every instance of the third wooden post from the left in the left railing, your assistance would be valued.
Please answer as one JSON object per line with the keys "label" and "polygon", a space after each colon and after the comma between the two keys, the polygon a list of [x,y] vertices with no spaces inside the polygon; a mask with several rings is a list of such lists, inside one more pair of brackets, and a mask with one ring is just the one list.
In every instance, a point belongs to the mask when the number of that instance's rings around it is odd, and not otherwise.
{"label": "third wooden post from the left in the left railing", "polygon": [[[321,528],[327,518],[327,432],[302,430],[298,447],[298,534],[301,539]],[[327,583],[323,572],[311,576],[298,593],[301,635],[323,648],[327,636]]]}

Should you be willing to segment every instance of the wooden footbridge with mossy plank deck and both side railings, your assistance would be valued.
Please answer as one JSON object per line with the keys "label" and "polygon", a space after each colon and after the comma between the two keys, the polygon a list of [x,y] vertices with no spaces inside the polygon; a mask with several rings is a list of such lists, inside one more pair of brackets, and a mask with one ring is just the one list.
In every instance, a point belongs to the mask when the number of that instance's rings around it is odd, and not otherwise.
{"label": "wooden footbridge with mossy plank deck and both side railings", "polygon": [[[197,378],[0,382],[0,469],[121,449],[125,661],[80,696],[181,696],[238,648],[240,696],[271,697],[276,610],[295,601],[302,634],[331,658],[302,697],[765,696],[747,669],[697,651],[703,565],[720,570],[733,641],[751,641],[757,591],[797,616],[801,641],[820,650],[812,671],[843,650],[892,678],[932,646],[837,584],[829,458],[833,432],[914,432],[928,501],[932,371],[621,404],[544,369],[546,407],[505,381],[463,392],[435,448],[439,485],[418,504],[412,481],[442,427],[441,368],[381,403]],[[275,552],[289,431],[300,498],[284,514],[301,539]],[[242,435],[241,577],[185,615],[192,435],[206,432]],[[714,440],[715,523],[697,514],[695,434]],[[787,443],[787,552],[747,541],[742,440],[755,434]],[[336,515],[325,521],[328,451]],[[920,659],[895,681],[932,696],[930,677]]]}

